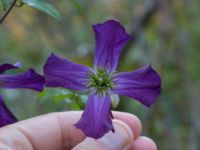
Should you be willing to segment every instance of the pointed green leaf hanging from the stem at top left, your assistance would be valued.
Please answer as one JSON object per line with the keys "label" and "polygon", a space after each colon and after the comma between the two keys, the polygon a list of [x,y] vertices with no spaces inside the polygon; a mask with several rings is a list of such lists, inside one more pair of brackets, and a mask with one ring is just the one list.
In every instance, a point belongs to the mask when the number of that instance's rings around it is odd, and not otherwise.
{"label": "pointed green leaf hanging from the stem at top left", "polygon": [[60,13],[55,9],[55,7],[49,3],[42,0],[22,0],[26,5],[39,9],[40,11],[52,16],[53,18],[61,21]]}

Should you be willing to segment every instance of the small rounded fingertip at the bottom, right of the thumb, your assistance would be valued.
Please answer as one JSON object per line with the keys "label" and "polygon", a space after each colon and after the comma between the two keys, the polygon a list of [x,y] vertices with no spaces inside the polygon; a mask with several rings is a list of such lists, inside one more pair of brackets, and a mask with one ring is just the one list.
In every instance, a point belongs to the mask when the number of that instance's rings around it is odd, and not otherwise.
{"label": "small rounded fingertip at the bottom, right of the thumb", "polygon": [[134,141],[132,150],[157,150],[157,146],[152,139],[141,136]]}

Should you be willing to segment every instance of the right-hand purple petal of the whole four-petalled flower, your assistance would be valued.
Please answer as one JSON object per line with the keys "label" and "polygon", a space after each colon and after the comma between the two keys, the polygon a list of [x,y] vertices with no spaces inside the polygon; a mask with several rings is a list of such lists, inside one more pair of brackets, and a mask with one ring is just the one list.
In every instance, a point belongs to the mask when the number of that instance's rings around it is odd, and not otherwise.
{"label": "right-hand purple petal of the whole four-petalled flower", "polygon": [[150,107],[161,92],[161,79],[151,66],[132,72],[119,73],[116,94],[126,95]]}

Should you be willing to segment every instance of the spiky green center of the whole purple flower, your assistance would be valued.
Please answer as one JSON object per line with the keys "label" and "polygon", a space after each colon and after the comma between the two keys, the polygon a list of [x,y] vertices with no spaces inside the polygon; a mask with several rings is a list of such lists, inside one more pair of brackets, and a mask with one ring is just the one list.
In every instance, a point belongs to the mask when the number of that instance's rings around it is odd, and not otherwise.
{"label": "spiky green center of the whole purple flower", "polygon": [[97,94],[105,94],[109,89],[114,88],[112,75],[102,68],[99,68],[96,73],[91,72],[89,87]]}

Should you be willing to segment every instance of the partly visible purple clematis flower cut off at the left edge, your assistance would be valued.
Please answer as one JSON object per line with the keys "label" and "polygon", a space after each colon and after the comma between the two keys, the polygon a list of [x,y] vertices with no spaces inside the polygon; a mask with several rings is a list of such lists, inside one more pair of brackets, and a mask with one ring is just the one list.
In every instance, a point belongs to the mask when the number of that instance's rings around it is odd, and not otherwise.
{"label": "partly visible purple clematis flower cut off at the left edge", "polygon": [[[44,88],[44,77],[37,74],[33,69],[28,69],[23,74],[4,74],[7,70],[21,67],[20,63],[0,65],[0,88],[28,88],[42,91]],[[0,96],[0,127],[16,122],[16,117],[9,111],[3,98]]]}

